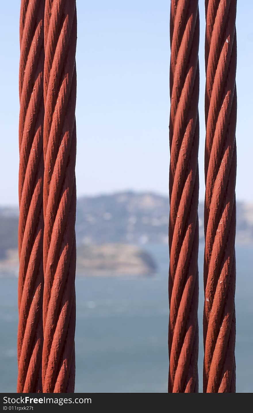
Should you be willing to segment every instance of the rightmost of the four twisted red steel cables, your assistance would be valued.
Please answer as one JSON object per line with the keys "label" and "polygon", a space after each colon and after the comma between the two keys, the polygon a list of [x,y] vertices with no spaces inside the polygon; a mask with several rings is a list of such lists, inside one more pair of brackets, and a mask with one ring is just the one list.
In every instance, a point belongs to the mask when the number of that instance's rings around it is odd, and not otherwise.
{"label": "rightmost of the four twisted red steel cables", "polygon": [[204,392],[235,392],[236,0],[206,0]]}

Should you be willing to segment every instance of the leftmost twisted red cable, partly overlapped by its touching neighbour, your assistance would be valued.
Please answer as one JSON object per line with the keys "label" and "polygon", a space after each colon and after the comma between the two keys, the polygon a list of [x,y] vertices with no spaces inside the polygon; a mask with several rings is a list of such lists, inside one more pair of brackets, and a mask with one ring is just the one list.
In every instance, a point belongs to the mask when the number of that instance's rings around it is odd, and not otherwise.
{"label": "leftmost twisted red cable, partly overlapped by its touching neighbour", "polygon": [[22,0],[19,65],[17,392],[42,391],[44,2]]}

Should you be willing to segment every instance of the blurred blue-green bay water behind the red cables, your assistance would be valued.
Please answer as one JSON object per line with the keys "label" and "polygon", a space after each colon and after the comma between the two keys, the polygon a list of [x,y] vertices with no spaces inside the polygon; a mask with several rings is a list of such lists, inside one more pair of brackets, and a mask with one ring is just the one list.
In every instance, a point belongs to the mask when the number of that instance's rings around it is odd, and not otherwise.
{"label": "blurred blue-green bay water behind the red cables", "polygon": [[[168,247],[149,245],[150,277],[76,278],[76,392],[167,392]],[[199,381],[203,365],[203,247],[199,251]],[[237,392],[253,392],[253,245],[237,246]],[[17,278],[0,288],[0,391],[16,392]]]}

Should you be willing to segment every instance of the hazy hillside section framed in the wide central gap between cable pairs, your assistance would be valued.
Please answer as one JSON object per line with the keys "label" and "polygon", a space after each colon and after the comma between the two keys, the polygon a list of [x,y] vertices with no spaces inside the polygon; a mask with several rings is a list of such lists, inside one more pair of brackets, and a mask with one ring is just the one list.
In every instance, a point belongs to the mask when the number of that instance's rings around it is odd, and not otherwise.
{"label": "hazy hillside section framed in the wide central gap between cable pairs", "polygon": [[124,192],[78,199],[78,243],[159,243],[167,242],[167,233],[165,197]]}

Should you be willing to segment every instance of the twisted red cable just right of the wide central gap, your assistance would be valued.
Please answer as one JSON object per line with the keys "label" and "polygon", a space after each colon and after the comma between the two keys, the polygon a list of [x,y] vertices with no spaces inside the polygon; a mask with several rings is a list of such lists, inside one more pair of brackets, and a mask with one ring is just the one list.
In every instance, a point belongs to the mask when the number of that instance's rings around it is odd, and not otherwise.
{"label": "twisted red cable just right of the wide central gap", "polygon": [[198,392],[199,10],[170,13],[169,392]]}

